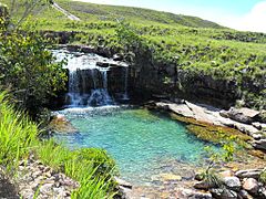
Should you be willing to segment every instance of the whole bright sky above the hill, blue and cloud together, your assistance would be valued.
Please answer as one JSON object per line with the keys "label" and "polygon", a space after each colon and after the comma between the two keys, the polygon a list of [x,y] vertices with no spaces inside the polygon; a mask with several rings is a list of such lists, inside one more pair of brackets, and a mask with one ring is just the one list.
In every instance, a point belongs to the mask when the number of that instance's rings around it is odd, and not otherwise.
{"label": "whole bright sky above the hill, blue and cloud together", "polygon": [[196,15],[236,30],[266,32],[266,0],[75,0]]}

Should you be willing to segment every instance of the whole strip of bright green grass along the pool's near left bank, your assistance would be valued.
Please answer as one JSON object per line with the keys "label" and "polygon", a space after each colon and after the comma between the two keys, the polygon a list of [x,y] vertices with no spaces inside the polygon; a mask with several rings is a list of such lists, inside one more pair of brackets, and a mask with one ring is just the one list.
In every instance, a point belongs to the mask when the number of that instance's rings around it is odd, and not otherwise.
{"label": "whole strip of bright green grass along the pool's near left bank", "polygon": [[114,160],[101,149],[69,150],[53,140],[40,140],[38,125],[16,112],[6,93],[0,93],[0,166],[14,177],[19,163],[30,154],[44,165],[79,181],[72,198],[112,198]]}

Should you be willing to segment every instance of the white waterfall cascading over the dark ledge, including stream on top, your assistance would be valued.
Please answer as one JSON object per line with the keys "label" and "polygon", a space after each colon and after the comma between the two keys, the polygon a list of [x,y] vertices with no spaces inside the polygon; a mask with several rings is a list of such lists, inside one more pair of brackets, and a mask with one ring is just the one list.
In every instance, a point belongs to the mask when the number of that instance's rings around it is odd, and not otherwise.
{"label": "white waterfall cascading over the dark ledge, including stream on top", "polygon": [[[122,66],[124,81],[122,87],[122,100],[129,100],[127,96],[127,65],[117,65],[112,60],[104,59],[95,54],[70,53],[68,51],[53,51],[58,60],[66,59],[69,70],[69,92],[66,94],[68,107],[80,106],[104,106],[114,105],[115,102],[109,92],[109,73],[116,66]],[[99,66],[98,62],[110,63],[112,66]],[[116,65],[115,65],[116,64]],[[124,70],[123,70],[124,69]],[[115,74],[116,75],[116,74]],[[113,77],[114,75],[112,75]],[[115,76],[120,78],[120,76]],[[114,87],[111,85],[111,87]]]}

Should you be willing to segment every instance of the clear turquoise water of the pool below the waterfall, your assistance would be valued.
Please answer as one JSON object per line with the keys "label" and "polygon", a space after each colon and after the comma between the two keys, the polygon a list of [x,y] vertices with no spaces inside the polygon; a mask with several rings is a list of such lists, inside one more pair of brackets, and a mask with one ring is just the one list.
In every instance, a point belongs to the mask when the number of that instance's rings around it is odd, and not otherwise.
{"label": "clear turquoise water of the pool below the waterfall", "polygon": [[133,182],[150,181],[173,166],[198,164],[206,143],[191,135],[185,125],[146,109],[88,108],[63,114],[79,129],[74,135],[57,135],[70,148],[106,149],[119,165],[121,176]]}

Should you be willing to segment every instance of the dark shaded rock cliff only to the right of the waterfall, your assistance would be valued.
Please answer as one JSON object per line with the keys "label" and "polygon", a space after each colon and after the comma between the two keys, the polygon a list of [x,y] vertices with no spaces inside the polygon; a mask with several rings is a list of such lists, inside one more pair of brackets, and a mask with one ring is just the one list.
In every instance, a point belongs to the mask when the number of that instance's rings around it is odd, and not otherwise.
{"label": "dark shaded rock cliff only to the right of the waterfall", "polygon": [[229,106],[239,97],[233,81],[214,80],[174,64],[155,63],[149,54],[135,56],[130,67],[130,85],[136,93],[191,98],[219,106]]}

